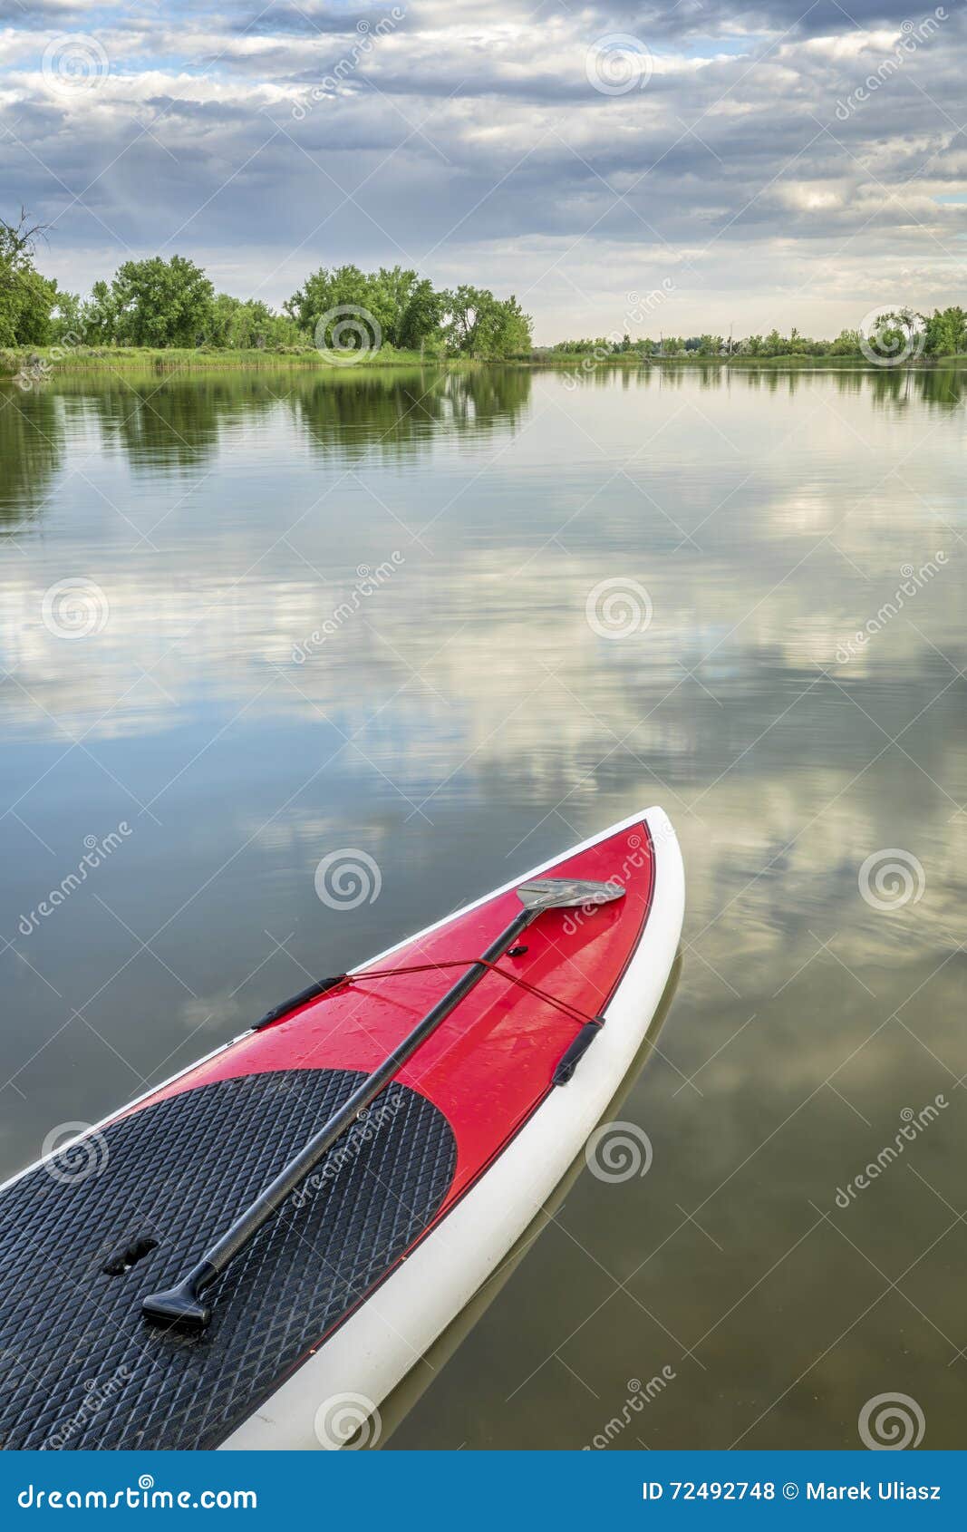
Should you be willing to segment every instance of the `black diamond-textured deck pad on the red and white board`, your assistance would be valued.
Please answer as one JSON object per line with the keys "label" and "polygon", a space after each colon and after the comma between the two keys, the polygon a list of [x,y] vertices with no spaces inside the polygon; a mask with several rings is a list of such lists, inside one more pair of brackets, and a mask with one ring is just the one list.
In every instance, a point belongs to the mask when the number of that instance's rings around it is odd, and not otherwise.
{"label": "black diamond-textured deck pad on the red and white board", "polygon": [[362,1079],[204,1085],[3,1192],[2,1446],[213,1448],[262,1403],[432,1221],[457,1160],[432,1102],[388,1088],[208,1290],[202,1336],[146,1324],[141,1299],[182,1276]]}

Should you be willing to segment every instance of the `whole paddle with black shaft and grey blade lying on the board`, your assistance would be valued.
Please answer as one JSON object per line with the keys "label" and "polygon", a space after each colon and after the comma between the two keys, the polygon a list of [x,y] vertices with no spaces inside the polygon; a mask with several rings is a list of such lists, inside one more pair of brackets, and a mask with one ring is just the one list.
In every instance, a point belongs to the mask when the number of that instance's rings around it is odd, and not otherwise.
{"label": "whole paddle with black shaft and grey blade lying on the board", "polygon": [[[239,1218],[231,1224],[228,1230],[216,1239],[210,1250],[201,1258],[198,1265],[176,1282],[175,1287],[167,1288],[164,1293],[150,1293],[141,1304],[141,1311],[146,1319],[162,1325],[182,1325],[188,1330],[204,1330],[211,1319],[211,1305],[202,1301],[202,1293],[207,1287],[221,1276],[227,1267],[234,1261],[241,1250],[250,1242],[250,1239],[257,1235],[259,1229],[268,1223],[270,1218],[277,1213],[279,1207],[291,1193],[296,1190],[299,1183],[310,1174],[310,1170],[319,1164],[322,1157],[333,1147],[336,1140],[345,1134],[359,1112],[383,1091],[389,1082],[398,1074],[403,1065],[412,1059],[417,1048],[420,1048],[432,1033],[437,1031],[440,1023],[460,1005],[460,1002],[470,993],[470,990],[480,984],[480,980],[490,971],[490,964],[503,958],[504,953],[513,947],[518,936],[527,930],[532,921],[536,921],[539,915],[546,910],[572,910],[579,905],[596,905],[608,904],[611,899],[619,899],[624,895],[624,889],[619,882],[587,882],[572,878],[541,878],[533,882],[524,882],[516,890],[516,896],[524,905],[520,915],[516,915],[510,925],[490,942],[483,958],[478,958],[466,973],[457,980],[452,988],[446,991],[441,1000],[437,1000],[432,1011],[428,1011],[421,1022],[418,1022],[408,1036],[397,1043],[391,1054],[383,1059],[383,1062],[366,1075],[362,1085],[356,1088],[352,1095],[339,1108],[337,1112],[329,1117],[329,1120],[313,1134],[308,1143],[294,1155],[293,1160],[279,1172],[279,1175],[271,1181],[265,1190],[251,1203],[250,1207],[241,1213]],[[351,977],[351,976],[349,976]],[[596,1030],[590,1025],[590,1033]],[[585,1028],[587,1031],[587,1028]],[[579,1039],[576,1040],[579,1042]],[[587,1046],[590,1036],[584,1042]],[[569,1054],[573,1054],[576,1043],[572,1045]],[[584,1048],[581,1049],[584,1051]],[[569,1062],[569,1056],[561,1060],[561,1063]],[[576,1059],[573,1060],[576,1062]],[[570,1068],[573,1072],[573,1065]],[[565,1074],[564,1079],[570,1079]]]}

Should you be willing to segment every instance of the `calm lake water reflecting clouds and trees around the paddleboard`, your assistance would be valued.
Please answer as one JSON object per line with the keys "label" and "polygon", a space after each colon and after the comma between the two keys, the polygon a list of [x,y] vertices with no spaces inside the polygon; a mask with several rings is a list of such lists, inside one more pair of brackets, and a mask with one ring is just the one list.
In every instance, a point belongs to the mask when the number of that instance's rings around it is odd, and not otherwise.
{"label": "calm lake water reflecting clouds and trees around the paddleboard", "polygon": [[0,385],[2,1167],[661,803],[651,1169],[575,1178],[385,1445],[852,1448],[901,1393],[962,1446],[962,388]]}

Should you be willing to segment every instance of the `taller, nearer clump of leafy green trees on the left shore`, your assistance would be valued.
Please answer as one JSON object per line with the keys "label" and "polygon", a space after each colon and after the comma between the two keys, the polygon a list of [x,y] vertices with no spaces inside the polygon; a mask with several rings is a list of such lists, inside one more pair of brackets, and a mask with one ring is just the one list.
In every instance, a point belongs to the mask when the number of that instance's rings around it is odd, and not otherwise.
{"label": "taller, nearer clump of leafy green trees on the left shore", "polygon": [[87,296],[37,270],[43,227],[0,219],[0,346],[152,346],[377,351],[506,360],[530,355],[532,320],[516,297],[461,283],[452,291],[402,267],[320,267],[276,313],[216,293],[185,256],[126,260]]}

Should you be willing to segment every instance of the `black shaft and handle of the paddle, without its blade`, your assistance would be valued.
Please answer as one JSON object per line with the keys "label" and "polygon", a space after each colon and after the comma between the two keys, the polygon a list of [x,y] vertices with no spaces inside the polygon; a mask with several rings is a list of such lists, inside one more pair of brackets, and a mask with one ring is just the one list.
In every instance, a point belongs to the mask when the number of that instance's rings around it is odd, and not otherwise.
{"label": "black shaft and handle of the paddle, without its blade", "polygon": [[[323,1128],[308,1140],[294,1155],[284,1170],[271,1181],[265,1190],[251,1203],[245,1212],[236,1218],[228,1230],[218,1239],[188,1275],[172,1288],[170,1293],[158,1293],[144,1301],[144,1311],[149,1319],[175,1324],[182,1322],[204,1327],[208,1322],[205,1305],[198,1305],[198,1298],[222,1272],[234,1261],[236,1255],[245,1249],[250,1239],[257,1235],[270,1218],[291,1196],[296,1187],[305,1180],[323,1155],[333,1147],[337,1138],[352,1124],[354,1118],[383,1091],[398,1074],[403,1065],[412,1059],[415,1051],[431,1037],[441,1022],[460,1005],[460,1002],[489,973],[489,965],[503,958],[509,947],[513,947],[518,936],[527,930],[539,910],[521,910],[510,925],[501,931],[497,941],[490,942],[483,958],[478,958],[466,973],[452,985],[443,999],[437,1000],[432,1011],[428,1011],[421,1022],[406,1037],[397,1043],[391,1054],[383,1059],[372,1074],[366,1075],[352,1095],[329,1117]],[[178,1296],[192,1311],[178,1313]],[[175,1305],[172,1301],[175,1299]]]}

